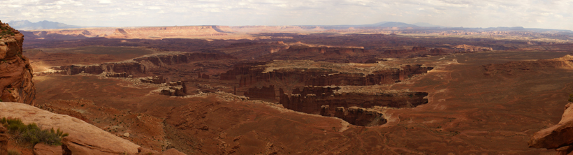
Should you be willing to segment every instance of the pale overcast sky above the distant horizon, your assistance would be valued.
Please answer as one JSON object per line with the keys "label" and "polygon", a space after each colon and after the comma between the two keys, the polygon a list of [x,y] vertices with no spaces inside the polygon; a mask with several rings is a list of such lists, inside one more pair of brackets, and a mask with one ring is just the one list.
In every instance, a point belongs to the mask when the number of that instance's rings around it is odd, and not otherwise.
{"label": "pale overcast sky above the distant horizon", "polygon": [[573,30],[573,0],[0,0],[0,20],[109,27],[391,21]]}

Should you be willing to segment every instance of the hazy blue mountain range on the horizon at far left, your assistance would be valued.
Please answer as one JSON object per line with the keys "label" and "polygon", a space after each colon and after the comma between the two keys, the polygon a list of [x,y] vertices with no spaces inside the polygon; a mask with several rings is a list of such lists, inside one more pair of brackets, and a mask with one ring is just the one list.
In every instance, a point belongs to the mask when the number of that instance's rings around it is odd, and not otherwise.
{"label": "hazy blue mountain range on the horizon at far left", "polygon": [[30,22],[28,20],[17,20],[8,22],[10,27],[14,29],[21,30],[36,30],[36,29],[75,29],[75,28],[85,28],[82,26],[68,25],[59,22],[50,22],[48,20],[40,22]]}

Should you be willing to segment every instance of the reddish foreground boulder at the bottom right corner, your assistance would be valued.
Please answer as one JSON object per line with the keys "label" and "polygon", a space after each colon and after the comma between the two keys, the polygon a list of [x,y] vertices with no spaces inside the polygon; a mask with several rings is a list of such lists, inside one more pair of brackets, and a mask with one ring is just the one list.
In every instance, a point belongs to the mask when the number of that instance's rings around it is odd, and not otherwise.
{"label": "reddish foreground boulder at the bottom right corner", "polygon": [[565,112],[558,124],[538,131],[529,142],[529,147],[557,149],[558,154],[568,154],[573,145],[573,103],[565,105]]}

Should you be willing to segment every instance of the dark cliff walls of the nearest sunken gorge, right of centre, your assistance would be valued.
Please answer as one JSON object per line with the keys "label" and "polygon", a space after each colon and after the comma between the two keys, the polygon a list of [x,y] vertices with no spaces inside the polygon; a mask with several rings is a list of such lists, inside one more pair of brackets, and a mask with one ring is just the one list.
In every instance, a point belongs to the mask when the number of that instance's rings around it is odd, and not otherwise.
{"label": "dark cliff walls of the nearest sunken gorge, right of centre", "polygon": [[[414,108],[428,103],[426,92],[382,92],[379,94],[335,93],[339,87],[304,87],[293,94],[281,94],[284,108],[308,114],[338,117],[358,126],[376,126],[386,123],[382,113],[368,110],[374,106]],[[347,108],[347,109],[345,109]]]}

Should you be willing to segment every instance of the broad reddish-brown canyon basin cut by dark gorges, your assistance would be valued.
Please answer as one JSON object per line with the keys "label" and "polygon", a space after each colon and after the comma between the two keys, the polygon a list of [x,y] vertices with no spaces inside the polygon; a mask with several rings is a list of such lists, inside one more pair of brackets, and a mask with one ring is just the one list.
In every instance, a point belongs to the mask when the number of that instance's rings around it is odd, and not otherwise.
{"label": "broad reddish-brown canyon basin cut by dark gorges", "polygon": [[567,44],[380,35],[31,39],[24,55],[37,107],[157,151],[555,154],[528,141],[573,91]]}

